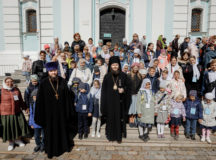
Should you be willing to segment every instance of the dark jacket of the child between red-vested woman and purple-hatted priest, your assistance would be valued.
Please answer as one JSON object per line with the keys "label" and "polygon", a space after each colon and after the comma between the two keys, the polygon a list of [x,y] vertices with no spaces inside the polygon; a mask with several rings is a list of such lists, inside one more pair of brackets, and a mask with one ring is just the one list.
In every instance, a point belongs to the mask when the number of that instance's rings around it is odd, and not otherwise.
{"label": "dark jacket of the child between red-vested woman and purple-hatted priest", "polygon": [[39,83],[36,86],[30,83],[29,86],[26,88],[25,93],[24,93],[24,101],[28,108],[30,107],[30,104],[33,103],[31,93],[33,90],[38,89],[38,88],[39,88]]}

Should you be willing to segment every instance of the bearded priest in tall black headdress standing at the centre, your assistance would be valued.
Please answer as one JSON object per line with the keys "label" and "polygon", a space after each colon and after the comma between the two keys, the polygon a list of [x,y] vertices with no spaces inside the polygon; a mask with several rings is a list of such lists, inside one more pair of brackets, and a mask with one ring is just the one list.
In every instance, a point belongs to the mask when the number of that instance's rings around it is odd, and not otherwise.
{"label": "bearded priest in tall black headdress standing at the centre", "polygon": [[119,57],[111,57],[101,91],[101,113],[106,120],[106,137],[109,141],[121,143],[122,137],[127,136],[130,84],[127,74],[121,70]]}

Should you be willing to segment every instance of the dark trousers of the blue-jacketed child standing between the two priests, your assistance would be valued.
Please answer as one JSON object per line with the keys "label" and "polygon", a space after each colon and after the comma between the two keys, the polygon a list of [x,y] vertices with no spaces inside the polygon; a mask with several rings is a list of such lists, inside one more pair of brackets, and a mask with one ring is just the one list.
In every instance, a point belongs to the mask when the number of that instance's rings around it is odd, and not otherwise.
{"label": "dark trousers of the blue-jacketed child standing between the two priests", "polygon": [[78,113],[78,133],[88,134],[88,113]]}

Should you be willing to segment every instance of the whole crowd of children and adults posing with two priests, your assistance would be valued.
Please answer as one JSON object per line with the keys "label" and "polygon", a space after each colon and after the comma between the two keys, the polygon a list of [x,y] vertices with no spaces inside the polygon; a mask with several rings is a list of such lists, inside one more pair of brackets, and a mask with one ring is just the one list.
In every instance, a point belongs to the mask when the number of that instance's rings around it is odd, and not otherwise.
{"label": "whole crowd of children and adults posing with two priests", "polygon": [[[8,150],[24,146],[21,137],[34,129],[35,152],[48,157],[70,151],[73,138],[100,138],[102,122],[106,138],[122,142],[127,137],[126,123],[137,127],[139,138],[147,142],[156,125],[158,138],[165,138],[164,127],[179,138],[184,124],[186,138],[195,140],[197,126],[201,141],[211,143],[216,129],[216,36],[186,37],[179,43],[176,35],[169,44],[160,35],[146,43],[133,34],[128,44],[99,40],[86,44],[74,34],[71,46],[58,38],[44,45],[40,59],[24,56],[23,75],[29,84],[24,100],[13,79],[3,81],[0,115],[3,142]],[[29,113],[29,121],[22,113]],[[182,123],[184,122],[184,123]],[[89,126],[91,130],[89,130]],[[29,127],[30,126],[30,127]]]}

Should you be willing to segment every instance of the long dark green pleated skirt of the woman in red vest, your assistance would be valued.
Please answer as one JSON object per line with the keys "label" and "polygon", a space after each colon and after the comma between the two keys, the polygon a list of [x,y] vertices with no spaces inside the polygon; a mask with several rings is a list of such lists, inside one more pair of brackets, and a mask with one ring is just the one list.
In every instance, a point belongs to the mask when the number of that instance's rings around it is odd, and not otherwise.
{"label": "long dark green pleated skirt of the woman in red vest", "polygon": [[30,134],[30,128],[22,112],[16,115],[1,115],[3,142],[16,140]]}

